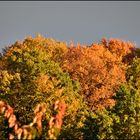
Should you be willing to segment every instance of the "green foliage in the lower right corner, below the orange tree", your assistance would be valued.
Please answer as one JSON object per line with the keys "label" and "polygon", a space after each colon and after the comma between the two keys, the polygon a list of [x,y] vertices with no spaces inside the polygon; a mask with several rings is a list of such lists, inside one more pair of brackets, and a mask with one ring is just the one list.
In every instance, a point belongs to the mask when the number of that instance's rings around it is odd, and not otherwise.
{"label": "green foliage in the lower right corner, below the orange tree", "polygon": [[116,105],[93,115],[98,139],[140,139],[139,66],[139,59],[134,59],[127,71],[127,83],[114,96]]}

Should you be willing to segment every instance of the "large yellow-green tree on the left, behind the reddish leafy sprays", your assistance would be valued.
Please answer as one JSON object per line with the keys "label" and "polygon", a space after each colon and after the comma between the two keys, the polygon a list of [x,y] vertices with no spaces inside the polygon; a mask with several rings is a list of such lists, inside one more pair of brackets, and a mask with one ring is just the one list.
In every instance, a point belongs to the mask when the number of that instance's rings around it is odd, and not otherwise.
{"label": "large yellow-green tree on the left, behind the reddish leafy sprays", "polygon": [[[40,38],[27,38],[23,43],[16,42],[5,50],[1,59],[0,99],[8,101],[14,108],[21,124],[31,122],[34,107],[41,102],[47,103],[48,121],[52,116],[54,101],[64,100],[66,113],[60,137],[71,138],[76,134],[74,137],[78,138],[82,136],[80,128],[86,110],[78,94],[80,85],[51,59],[51,53],[44,43]],[[63,134],[63,131],[68,133]]]}

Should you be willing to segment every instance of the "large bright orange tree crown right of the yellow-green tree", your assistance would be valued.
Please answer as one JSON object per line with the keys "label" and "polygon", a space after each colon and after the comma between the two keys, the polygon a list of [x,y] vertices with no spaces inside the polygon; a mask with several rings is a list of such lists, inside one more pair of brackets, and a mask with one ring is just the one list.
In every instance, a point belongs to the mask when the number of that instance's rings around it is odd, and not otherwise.
{"label": "large bright orange tree crown right of the yellow-green tree", "polygon": [[81,83],[81,95],[92,110],[112,107],[112,96],[118,86],[125,82],[126,65],[122,58],[131,53],[134,46],[120,40],[104,39],[90,47],[70,47],[63,58],[63,69],[72,79]]}

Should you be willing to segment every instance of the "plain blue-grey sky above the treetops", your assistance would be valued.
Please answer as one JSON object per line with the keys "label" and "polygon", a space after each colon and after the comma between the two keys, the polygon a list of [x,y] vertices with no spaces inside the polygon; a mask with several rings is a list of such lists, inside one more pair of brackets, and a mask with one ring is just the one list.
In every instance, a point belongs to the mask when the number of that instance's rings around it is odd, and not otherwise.
{"label": "plain blue-grey sky above the treetops", "polygon": [[0,51],[38,33],[88,45],[118,38],[139,47],[140,2],[0,1]]}

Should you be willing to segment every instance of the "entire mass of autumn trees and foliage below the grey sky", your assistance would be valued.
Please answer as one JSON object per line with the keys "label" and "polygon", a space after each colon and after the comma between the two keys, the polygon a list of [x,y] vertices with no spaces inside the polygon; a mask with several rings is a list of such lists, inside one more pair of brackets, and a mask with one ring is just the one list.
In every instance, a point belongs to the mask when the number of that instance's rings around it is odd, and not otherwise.
{"label": "entire mass of autumn trees and foliage below the grey sky", "polygon": [[140,48],[41,35],[5,47],[0,139],[140,139]]}

